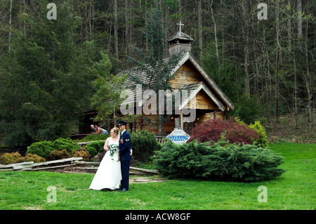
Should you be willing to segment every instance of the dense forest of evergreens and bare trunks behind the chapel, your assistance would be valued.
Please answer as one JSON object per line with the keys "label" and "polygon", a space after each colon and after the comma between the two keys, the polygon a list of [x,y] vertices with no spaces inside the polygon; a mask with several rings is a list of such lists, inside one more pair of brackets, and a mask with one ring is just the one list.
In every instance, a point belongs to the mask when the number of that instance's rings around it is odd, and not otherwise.
{"label": "dense forest of evergreens and bare trunks behind the chapel", "polygon": [[[49,2],[57,20],[47,18]],[[165,40],[185,25],[193,55],[236,106],[228,116],[260,120],[268,131],[291,124],[315,141],[315,1],[265,1],[267,20],[258,19],[259,3],[0,0],[0,143],[69,135],[91,109],[95,65],[103,60],[117,74],[133,66],[130,58],[142,60],[135,47],[150,52],[142,32],[154,8]]]}

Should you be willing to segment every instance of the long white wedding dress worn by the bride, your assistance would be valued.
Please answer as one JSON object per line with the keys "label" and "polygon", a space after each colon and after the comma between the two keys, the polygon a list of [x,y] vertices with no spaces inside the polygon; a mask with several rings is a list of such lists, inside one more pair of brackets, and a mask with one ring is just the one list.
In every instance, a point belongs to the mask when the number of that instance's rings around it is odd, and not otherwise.
{"label": "long white wedding dress worn by the bride", "polygon": [[[118,142],[109,141],[110,145],[119,146]],[[110,190],[119,189],[121,183],[121,162],[119,161],[119,150],[114,152],[113,157],[110,156],[110,151],[105,153],[96,176],[94,176],[92,183],[89,187],[91,190],[103,190],[105,188]]]}

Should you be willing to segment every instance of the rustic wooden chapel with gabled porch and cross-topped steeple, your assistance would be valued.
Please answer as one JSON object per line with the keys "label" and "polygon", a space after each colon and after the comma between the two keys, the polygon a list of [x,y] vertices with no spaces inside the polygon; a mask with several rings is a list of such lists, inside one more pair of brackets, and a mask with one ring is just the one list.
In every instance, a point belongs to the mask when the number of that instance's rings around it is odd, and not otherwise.
{"label": "rustic wooden chapel with gabled porch and cross-topped steeple", "polygon": [[[181,30],[181,29],[180,29]],[[202,65],[199,64],[197,59],[191,53],[191,44],[193,39],[187,34],[181,31],[171,37],[167,41],[169,47],[169,58],[166,58],[164,62],[168,62],[173,57],[182,52],[180,61],[178,65],[172,68],[173,79],[169,80],[171,88],[174,90],[187,90],[187,97],[182,98],[180,107],[180,114],[172,114],[169,116],[164,116],[166,121],[163,123],[161,131],[161,136],[167,136],[175,128],[183,129],[186,133],[190,135],[192,128],[194,126],[199,126],[209,119],[225,119],[225,112],[228,110],[234,110],[234,105],[230,99],[225,95],[225,93],[219,88],[216,82],[207,74]],[[145,72],[134,72],[131,74],[133,77],[137,77],[143,82],[146,80],[147,74]],[[134,79],[135,80],[135,79]],[[136,107],[136,83],[131,79],[130,76],[126,78],[124,86],[130,89],[135,96]],[[145,89],[142,89],[143,93]],[[158,99],[158,96],[157,96]],[[192,100],[195,100],[195,106],[192,104]],[[138,102],[139,103],[139,102]],[[141,105],[144,105],[142,102]],[[183,110],[190,109],[195,110],[194,121],[186,121],[183,115]],[[158,109],[157,109],[158,110]],[[146,129],[159,134],[159,119],[157,114],[142,114],[137,119],[129,123],[129,129],[139,130]],[[124,116],[121,117],[124,119]],[[114,124],[111,124],[112,126]]]}

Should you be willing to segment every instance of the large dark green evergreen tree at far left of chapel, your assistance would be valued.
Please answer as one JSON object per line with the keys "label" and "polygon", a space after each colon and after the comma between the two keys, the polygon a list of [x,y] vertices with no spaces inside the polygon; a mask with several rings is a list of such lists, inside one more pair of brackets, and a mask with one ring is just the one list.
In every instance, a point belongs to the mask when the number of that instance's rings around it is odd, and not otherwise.
{"label": "large dark green evergreen tree at far left of chapel", "polygon": [[0,60],[0,129],[8,145],[67,136],[89,104],[93,45],[74,43],[81,20],[60,4],[60,20],[23,14],[27,34],[13,29],[11,51]]}

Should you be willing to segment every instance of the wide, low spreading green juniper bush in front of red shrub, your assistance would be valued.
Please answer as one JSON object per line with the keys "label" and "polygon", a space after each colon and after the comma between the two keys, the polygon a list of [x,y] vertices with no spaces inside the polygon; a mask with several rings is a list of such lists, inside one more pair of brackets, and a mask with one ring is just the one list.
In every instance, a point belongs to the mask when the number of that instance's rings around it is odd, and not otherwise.
{"label": "wide, low spreading green juniper bush in front of red shrub", "polygon": [[283,157],[256,145],[197,143],[176,145],[168,140],[154,159],[157,170],[168,178],[197,178],[253,182],[281,176]]}

